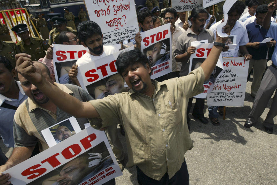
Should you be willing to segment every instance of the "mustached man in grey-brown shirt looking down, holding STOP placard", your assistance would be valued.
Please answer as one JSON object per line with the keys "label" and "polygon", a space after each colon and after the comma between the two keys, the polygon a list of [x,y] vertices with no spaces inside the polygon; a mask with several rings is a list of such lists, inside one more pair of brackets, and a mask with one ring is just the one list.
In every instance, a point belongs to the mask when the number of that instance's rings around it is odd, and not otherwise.
{"label": "mustached man in grey-brown shirt looking down, holding STOP placard", "polygon": [[[192,9],[192,13],[189,16],[189,20],[192,25],[179,36],[175,44],[174,57],[177,62],[182,62],[180,76],[186,76],[189,72],[189,58],[190,55],[195,53],[196,47],[191,46],[192,41],[208,40],[208,43],[214,42],[215,37],[213,32],[205,29],[205,22],[208,16],[208,12],[203,7],[195,7]],[[187,123],[189,119],[189,111],[192,107],[192,99],[189,99],[187,106]],[[200,122],[207,124],[209,121],[204,117],[204,102],[203,98],[196,98],[192,115],[199,119]]]}

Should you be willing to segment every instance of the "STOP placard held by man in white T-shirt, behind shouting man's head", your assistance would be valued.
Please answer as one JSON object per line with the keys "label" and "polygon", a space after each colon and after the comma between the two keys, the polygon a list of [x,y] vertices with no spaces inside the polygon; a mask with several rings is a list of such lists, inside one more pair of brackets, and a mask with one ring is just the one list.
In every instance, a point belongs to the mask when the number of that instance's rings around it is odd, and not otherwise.
{"label": "STOP placard held by man in white T-shirt, behind shouting man's head", "polygon": [[114,82],[112,83],[113,87],[117,87],[116,90],[113,91],[113,94],[123,91],[127,92],[127,88],[123,88],[124,80],[120,74],[118,74],[115,62],[121,52],[132,49],[134,49],[134,46],[78,67],[77,79],[81,87],[88,91],[95,99],[103,98],[111,94],[111,82]]}

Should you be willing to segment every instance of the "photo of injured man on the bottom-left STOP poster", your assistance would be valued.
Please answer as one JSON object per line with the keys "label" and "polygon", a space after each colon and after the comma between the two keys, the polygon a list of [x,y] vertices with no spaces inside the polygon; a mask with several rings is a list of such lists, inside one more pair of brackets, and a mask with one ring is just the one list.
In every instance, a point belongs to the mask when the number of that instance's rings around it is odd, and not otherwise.
{"label": "photo of injured man on the bottom-left STOP poster", "polygon": [[115,172],[112,165],[114,162],[103,141],[28,185],[78,185],[86,181],[102,184],[101,180],[103,182],[103,179]]}

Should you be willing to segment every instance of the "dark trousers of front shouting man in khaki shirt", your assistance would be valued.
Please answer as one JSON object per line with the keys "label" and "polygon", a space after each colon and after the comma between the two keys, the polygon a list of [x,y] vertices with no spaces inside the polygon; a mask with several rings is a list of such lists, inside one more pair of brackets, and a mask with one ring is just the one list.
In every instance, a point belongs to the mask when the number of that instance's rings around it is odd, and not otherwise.
{"label": "dark trousers of front shouting man in khaki shirt", "polygon": [[168,173],[164,174],[161,180],[152,179],[137,167],[137,182],[140,185],[189,185],[189,172],[187,171],[186,160],[171,179],[168,178]]}

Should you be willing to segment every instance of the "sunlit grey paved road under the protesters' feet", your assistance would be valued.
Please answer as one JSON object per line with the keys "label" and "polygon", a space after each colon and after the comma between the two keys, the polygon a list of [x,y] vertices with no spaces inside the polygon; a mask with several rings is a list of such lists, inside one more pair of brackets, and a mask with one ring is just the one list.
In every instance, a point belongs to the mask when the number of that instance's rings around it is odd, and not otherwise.
{"label": "sunlit grey paved road under the protesters' feet", "polygon": [[[226,119],[220,126],[205,125],[192,118],[191,138],[194,148],[185,154],[191,185],[276,185],[277,184],[277,124],[273,134],[262,126],[269,111],[267,106],[258,123],[252,128],[243,126],[252,108],[251,82],[247,83],[243,107],[226,107]],[[272,99],[269,101],[271,104]],[[207,106],[205,116],[208,117]],[[274,118],[277,123],[277,117]],[[120,135],[119,128],[118,134]],[[124,137],[120,135],[122,143]],[[7,148],[1,143],[1,148]],[[126,145],[124,145],[125,150]],[[9,156],[11,150],[7,153]],[[116,184],[137,185],[135,168],[124,169]]]}

